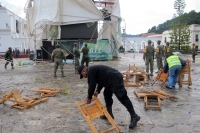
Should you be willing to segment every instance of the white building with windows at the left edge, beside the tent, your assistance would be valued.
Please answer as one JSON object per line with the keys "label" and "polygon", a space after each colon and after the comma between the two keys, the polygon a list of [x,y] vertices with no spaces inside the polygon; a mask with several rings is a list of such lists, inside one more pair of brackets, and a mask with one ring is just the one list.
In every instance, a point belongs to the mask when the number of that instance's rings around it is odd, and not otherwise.
{"label": "white building with windows at the left edge, beside the tent", "polygon": [[21,52],[28,49],[27,38],[24,32],[25,20],[0,5],[0,53],[8,47]]}

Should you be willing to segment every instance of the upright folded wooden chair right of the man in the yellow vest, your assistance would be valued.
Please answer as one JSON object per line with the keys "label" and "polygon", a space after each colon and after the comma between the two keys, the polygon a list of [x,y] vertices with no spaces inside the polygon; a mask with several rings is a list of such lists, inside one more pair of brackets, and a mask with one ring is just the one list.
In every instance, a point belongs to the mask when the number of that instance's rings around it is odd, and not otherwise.
{"label": "upright folded wooden chair right of the man in the yellow vest", "polygon": [[[178,84],[180,87],[182,87],[182,84],[187,84],[188,86],[192,85],[192,79],[191,79],[191,74],[190,74],[190,68],[191,68],[191,64],[190,64],[190,60],[186,60],[186,66],[184,66],[179,75],[178,75]],[[186,79],[186,80],[184,80]]]}

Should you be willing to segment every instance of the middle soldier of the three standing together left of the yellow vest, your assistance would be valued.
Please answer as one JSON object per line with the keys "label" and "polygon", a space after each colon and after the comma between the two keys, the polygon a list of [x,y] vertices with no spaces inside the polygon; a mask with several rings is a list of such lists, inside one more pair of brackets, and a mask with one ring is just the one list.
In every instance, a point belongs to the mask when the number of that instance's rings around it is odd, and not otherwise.
{"label": "middle soldier of the three standing together left of the yellow vest", "polygon": [[160,68],[163,68],[163,62],[162,62],[162,58],[163,58],[163,47],[160,45],[160,40],[157,41],[157,48],[156,48],[156,61],[157,61],[157,67],[158,70],[160,70]]}

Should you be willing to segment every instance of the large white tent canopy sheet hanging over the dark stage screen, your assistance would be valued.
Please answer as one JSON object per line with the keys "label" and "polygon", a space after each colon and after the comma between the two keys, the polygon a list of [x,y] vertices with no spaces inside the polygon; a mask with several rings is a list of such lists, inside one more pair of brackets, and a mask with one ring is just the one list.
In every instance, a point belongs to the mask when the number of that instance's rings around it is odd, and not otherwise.
{"label": "large white tent canopy sheet hanging over the dark stage screen", "polygon": [[[41,25],[69,25],[103,20],[92,0],[34,0],[26,9],[27,34]],[[31,3],[31,0],[29,0]]]}

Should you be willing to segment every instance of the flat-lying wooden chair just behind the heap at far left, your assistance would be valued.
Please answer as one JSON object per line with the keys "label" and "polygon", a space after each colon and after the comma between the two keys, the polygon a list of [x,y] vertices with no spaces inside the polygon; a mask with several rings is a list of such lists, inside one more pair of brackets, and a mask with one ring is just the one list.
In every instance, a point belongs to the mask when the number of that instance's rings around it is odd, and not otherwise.
{"label": "flat-lying wooden chair just behind the heap at far left", "polygon": [[58,88],[39,88],[37,90],[32,90],[33,92],[39,92],[41,93],[41,97],[53,97],[55,96],[58,92],[60,92],[61,89]]}

